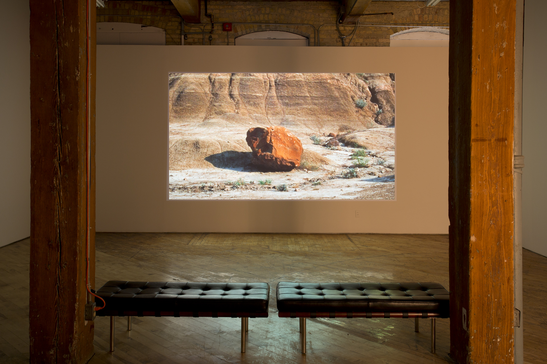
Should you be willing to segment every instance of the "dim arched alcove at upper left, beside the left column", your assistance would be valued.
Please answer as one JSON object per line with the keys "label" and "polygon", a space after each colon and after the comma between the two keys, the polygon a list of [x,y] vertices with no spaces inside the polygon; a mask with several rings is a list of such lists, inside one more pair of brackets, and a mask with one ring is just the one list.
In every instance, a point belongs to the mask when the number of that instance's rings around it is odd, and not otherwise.
{"label": "dim arched alcove at upper left, beside the left column", "polygon": [[165,45],[165,30],[134,23],[97,23],[97,44]]}

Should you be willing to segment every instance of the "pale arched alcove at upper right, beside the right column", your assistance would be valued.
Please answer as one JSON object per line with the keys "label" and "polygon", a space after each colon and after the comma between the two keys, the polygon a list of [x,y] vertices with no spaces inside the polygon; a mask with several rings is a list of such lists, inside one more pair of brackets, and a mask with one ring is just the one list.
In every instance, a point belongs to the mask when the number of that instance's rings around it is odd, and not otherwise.
{"label": "pale arched alcove at upper right, beside the right column", "polygon": [[447,47],[449,29],[412,28],[395,33],[389,37],[390,47]]}

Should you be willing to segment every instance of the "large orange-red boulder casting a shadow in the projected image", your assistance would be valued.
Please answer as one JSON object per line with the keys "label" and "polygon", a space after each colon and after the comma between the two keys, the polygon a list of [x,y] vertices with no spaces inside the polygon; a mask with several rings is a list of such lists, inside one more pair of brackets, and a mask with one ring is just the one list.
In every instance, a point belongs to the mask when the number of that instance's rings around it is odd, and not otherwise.
{"label": "large orange-red boulder casting a shadow in the projected image", "polygon": [[302,143],[286,128],[251,128],[246,141],[255,165],[274,171],[290,171],[300,165]]}

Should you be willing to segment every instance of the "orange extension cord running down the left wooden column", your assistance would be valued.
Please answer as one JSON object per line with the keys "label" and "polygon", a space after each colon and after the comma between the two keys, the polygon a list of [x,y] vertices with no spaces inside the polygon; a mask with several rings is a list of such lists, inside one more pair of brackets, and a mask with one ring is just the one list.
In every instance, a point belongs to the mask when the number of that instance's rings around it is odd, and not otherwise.
{"label": "orange extension cord running down the left wooden column", "polygon": [[88,293],[92,296],[97,297],[103,301],[103,307],[95,307],[95,311],[103,309],[106,306],[106,302],[102,297],[97,296],[92,293],[89,288],[89,226],[90,226],[90,216],[89,216],[89,205],[90,205],[90,191],[91,191],[91,182],[89,176],[91,175],[89,155],[90,153],[90,144],[91,144],[91,134],[89,128],[89,0],[86,1],[86,20],[85,20],[85,44],[86,44],[86,53],[87,53],[87,65],[86,65],[86,77],[85,77],[85,166],[86,166],[86,226],[85,226],[85,288],[88,290]]}

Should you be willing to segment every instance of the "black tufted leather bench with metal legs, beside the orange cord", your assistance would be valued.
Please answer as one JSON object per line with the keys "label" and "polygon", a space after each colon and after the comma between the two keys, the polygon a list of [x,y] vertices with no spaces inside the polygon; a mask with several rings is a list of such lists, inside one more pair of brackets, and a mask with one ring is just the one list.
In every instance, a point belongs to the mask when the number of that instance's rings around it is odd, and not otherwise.
{"label": "black tufted leather bench with metal legs, beside the orange cord", "polygon": [[[249,317],[268,317],[267,283],[195,283],[108,281],[96,292],[106,302],[97,316],[110,316],[110,351],[114,351],[114,317],[241,318],[241,352],[245,353]],[[97,306],[102,306],[96,299]]]}

